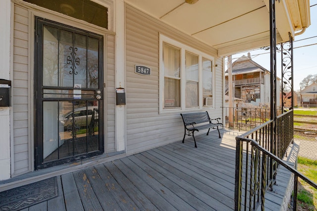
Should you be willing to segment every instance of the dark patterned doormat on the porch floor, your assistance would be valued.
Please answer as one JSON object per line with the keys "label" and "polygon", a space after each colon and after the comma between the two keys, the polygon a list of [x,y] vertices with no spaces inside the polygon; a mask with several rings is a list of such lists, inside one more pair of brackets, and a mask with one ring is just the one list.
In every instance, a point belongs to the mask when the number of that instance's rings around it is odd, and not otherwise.
{"label": "dark patterned doormat on the porch floor", "polygon": [[17,211],[58,195],[56,177],[0,192],[0,211]]}

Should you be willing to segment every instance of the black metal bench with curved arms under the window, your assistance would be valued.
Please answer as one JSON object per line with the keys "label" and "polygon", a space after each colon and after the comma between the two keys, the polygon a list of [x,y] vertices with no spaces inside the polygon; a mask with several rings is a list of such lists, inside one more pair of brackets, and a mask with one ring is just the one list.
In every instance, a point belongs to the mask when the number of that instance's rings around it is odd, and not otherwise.
{"label": "black metal bench with curved arms under the window", "polygon": [[223,126],[223,125],[222,123],[219,122],[220,118],[211,119],[207,111],[195,112],[195,113],[181,113],[180,115],[183,118],[184,127],[185,127],[183,143],[186,136],[186,130],[188,132],[187,133],[188,136],[193,136],[196,148],[197,148],[197,145],[196,145],[196,140],[194,136],[195,131],[208,129],[208,132],[207,132],[207,135],[208,135],[210,129],[216,127],[218,130],[219,138],[221,138],[218,126]]}

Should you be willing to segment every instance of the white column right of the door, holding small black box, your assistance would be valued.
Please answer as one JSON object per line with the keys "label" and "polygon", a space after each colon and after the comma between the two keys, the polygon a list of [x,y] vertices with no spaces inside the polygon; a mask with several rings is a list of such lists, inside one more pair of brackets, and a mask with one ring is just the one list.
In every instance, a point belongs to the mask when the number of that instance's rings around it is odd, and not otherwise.
{"label": "white column right of the door, holding small black box", "polygon": [[[124,1],[115,1],[115,86],[125,88],[125,36],[124,36]],[[116,151],[126,149],[126,107],[115,107],[115,139]]]}

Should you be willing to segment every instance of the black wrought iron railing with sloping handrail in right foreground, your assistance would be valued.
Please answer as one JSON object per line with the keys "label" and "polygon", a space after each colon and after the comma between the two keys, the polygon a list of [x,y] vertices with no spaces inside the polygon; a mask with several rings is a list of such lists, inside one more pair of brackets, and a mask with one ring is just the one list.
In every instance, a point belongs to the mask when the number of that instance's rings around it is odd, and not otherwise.
{"label": "black wrought iron railing with sloping handrail in right foreground", "polygon": [[294,210],[297,205],[298,177],[317,188],[314,182],[282,160],[293,141],[293,110],[277,116],[275,141],[270,140],[272,122],[273,120],[269,120],[236,137],[236,211],[258,210],[259,206],[264,210],[264,195],[268,189],[273,190],[279,165],[294,174]]}

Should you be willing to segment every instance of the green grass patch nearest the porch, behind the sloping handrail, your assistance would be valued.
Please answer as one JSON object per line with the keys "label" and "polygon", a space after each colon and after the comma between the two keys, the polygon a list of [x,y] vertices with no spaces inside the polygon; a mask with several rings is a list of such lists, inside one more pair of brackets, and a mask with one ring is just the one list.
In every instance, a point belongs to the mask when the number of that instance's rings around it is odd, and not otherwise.
{"label": "green grass patch nearest the porch, behind the sloping handrail", "polygon": [[[298,171],[317,183],[317,160],[298,157]],[[317,189],[299,179],[297,209],[300,211],[317,210]]]}

